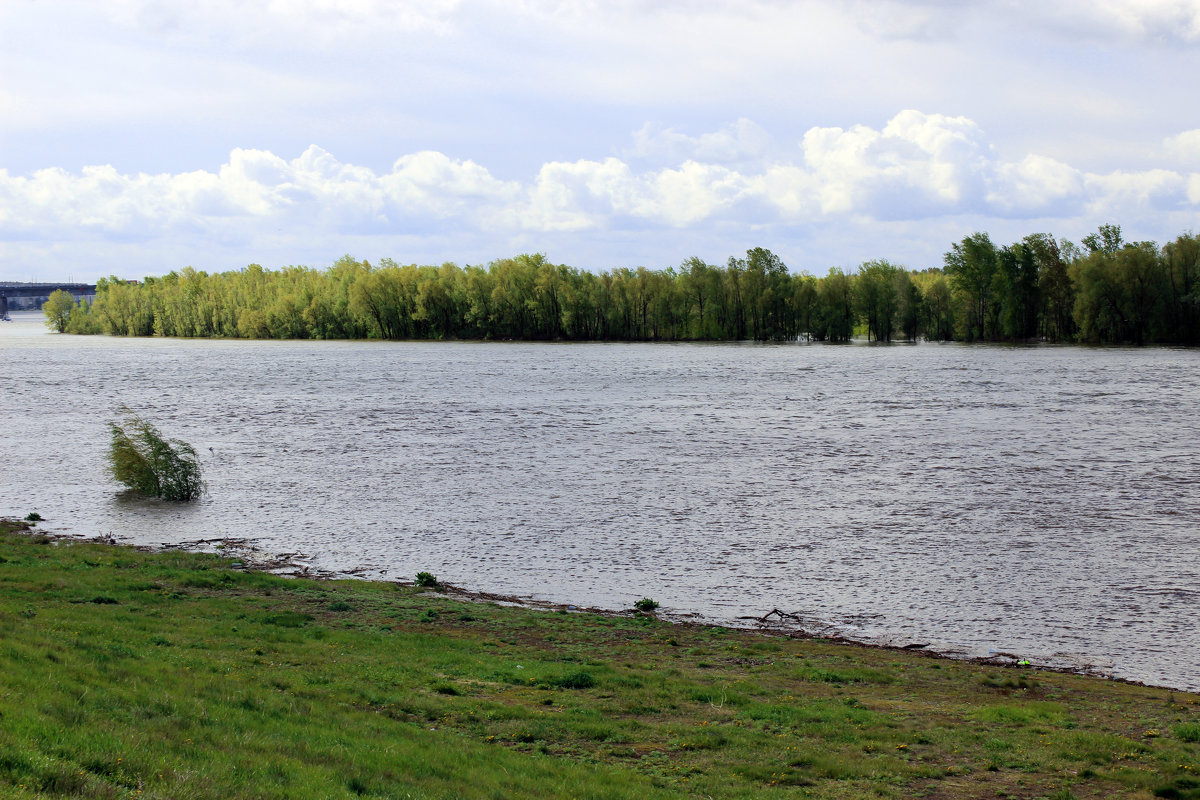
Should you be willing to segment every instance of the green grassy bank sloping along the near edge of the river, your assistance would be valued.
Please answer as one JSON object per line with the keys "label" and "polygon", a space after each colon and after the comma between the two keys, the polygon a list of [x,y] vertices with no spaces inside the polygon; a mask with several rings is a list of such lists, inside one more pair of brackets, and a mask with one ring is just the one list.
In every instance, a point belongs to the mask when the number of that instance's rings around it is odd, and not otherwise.
{"label": "green grassy bank sloping along the near edge of the river", "polygon": [[0,795],[1200,798],[1200,698],[0,524]]}

